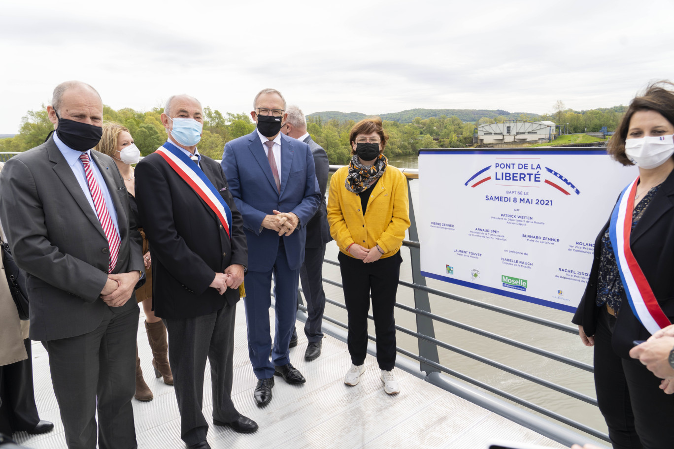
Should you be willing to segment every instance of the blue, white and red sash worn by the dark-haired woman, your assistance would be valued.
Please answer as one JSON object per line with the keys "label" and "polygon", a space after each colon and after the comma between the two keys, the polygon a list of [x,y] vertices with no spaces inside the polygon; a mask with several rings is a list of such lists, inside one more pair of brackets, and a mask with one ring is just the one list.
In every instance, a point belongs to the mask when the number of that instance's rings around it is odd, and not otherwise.
{"label": "blue, white and red sash worn by the dark-haired woman", "polygon": [[620,279],[623,281],[627,302],[641,324],[651,334],[671,324],[655,299],[643,271],[632,254],[630,233],[632,232],[632,212],[634,211],[634,194],[639,182],[637,177],[632,184],[625,187],[618,203],[611,213],[609,236],[613,245],[615,261],[618,265]]}

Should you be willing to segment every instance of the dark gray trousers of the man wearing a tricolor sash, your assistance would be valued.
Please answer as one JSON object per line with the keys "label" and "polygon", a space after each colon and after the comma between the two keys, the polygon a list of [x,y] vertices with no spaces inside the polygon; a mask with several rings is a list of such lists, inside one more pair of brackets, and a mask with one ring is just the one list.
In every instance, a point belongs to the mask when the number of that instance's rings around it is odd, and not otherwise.
{"label": "dark gray trousers of the man wearing a tricolor sash", "polygon": [[168,361],[180,411],[180,437],[191,446],[206,440],[208,422],[202,413],[206,359],[211,367],[213,418],[239,419],[232,403],[234,320],[236,308],[225,306],[195,318],[164,318],[168,331]]}

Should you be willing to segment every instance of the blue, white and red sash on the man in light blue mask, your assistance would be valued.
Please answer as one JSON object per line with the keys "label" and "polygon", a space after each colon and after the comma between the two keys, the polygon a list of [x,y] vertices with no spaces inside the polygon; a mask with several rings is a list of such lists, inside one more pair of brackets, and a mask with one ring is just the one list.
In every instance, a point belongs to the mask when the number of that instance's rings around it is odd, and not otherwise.
{"label": "blue, white and red sash on the man in light blue mask", "polygon": [[229,230],[232,226],[232,211],[229,209],[227,203],[224,202],[224,199],[220,196],[213,183],[210,182],[210,179],[206,178],[202,169],[171,142],[167,141],[155,152],[164,158],[178,176],[183,178],[187,182],[187,185],[204,200],[218,219],[220,219],[220,223],[222,223],[222,227],[227,232],[227,236],[231,238]]}

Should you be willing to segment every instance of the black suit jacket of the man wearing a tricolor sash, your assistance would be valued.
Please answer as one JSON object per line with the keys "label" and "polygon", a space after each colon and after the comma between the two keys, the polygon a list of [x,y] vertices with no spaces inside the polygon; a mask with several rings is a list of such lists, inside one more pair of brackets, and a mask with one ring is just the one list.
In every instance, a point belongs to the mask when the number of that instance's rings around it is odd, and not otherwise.
{"label": "black suit jacket of the man wearing a tricolor sash", "polygon": [[224,296],[209,287],[215,273],[248,264],[243,219],[220,165],[202,155],[206,177],[232,211],[231,239],[220,220],[168,163],[152,153],[135,169],[140,222],[152,253],[152,303],[161,318],[191,318],[236,304],[238,289]]}

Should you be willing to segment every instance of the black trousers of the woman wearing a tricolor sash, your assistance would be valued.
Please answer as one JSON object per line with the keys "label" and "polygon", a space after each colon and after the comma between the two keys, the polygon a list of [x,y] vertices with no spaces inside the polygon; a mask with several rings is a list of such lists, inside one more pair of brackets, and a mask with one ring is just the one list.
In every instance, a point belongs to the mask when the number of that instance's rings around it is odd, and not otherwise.
{"label": "black trousers of the woman wearing a tricolor sash", "polygon": [[671,449],[674,395],[658,388],[661,379],[640,361],[615,354],[614,326],[615,318],[602,308],[594,334],[594,385],[613,448]]}

